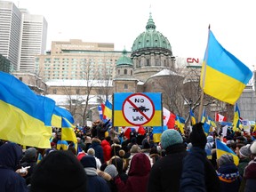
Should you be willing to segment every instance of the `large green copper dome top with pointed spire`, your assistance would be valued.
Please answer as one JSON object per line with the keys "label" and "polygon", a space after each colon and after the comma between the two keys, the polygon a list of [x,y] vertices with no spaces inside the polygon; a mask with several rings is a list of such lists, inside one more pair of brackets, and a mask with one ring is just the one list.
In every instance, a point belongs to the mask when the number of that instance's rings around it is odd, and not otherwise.
{"label": "large green copper dome top with pointed spire", "polygon": [[146,31],[138,36],[132,45],[132,52],[143,48],[164,48],[172,51],[169,40],[159,31],[156,31],[156,25],[152,19],[151,12],[149,14]]}

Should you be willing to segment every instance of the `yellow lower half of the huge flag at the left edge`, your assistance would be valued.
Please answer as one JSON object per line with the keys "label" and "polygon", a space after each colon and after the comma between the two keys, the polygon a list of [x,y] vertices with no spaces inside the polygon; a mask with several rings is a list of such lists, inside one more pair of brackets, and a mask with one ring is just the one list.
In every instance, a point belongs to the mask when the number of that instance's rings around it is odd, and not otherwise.
{"label": "yellow lower half of the huge flag at the left edge", "polygon": [[45,126],[44,122],[3,100],[0,100],[0,108],[4,111],[0,116],[2,140],[36,148],[51,148],[52,127]]}

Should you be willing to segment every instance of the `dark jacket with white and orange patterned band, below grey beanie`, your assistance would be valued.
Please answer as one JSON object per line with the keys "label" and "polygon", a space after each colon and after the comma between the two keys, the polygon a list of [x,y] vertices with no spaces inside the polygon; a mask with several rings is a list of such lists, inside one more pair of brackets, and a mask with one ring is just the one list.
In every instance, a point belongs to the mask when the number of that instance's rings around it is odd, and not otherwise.
{"label": "dark jacket with white and orange patterned band, below grey beanie", "polygon": [[217,174],[220,179],[220,191],[237,192],[239,190],[241,177],[236,164],[224,164],[220,166]]}

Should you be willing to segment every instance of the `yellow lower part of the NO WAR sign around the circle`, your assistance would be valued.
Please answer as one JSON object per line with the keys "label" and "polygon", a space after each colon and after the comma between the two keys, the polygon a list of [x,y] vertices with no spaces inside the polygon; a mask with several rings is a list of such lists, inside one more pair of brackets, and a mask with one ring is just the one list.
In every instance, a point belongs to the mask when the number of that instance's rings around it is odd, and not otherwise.
{"label": "yellow lower part of the NO WAR sign around the circle", "polygon": [[[114,126],[134,126],[129,122],[126,122],[124,119],[123,113],[121,110],[114,111]],[[162,126],[162,111],[156,110],[154,117],[147,124],[143,126]]]}

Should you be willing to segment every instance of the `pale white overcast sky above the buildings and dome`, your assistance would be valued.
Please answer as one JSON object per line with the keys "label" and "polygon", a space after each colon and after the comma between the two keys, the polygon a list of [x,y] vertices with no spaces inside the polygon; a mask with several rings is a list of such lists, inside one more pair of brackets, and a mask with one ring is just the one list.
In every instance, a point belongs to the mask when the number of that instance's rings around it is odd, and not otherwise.
{"label": "pale white overcast sky above the buildings and dome", "polygon": [[[256,12],[253,0],[20,0],[13,1],[48,22],[52,41],[82,39],[114,43],[131,51],[152,12],[156,30],[174,56],[204,58],[208,25],[224,48],[252,69],[256,66]],[[151,5],[151,8],[150,8]]]}

